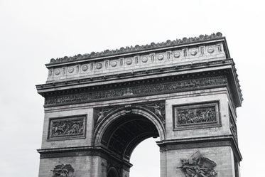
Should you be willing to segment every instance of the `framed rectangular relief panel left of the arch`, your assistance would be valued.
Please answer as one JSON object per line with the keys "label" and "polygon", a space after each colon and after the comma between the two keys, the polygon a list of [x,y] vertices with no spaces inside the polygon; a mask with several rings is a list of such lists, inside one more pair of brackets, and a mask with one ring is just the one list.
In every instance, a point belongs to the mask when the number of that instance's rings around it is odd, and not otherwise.
{"label": "framed rectangular relief panel left of the arch", "polygon": [[49,140],[85,137],[86,116],[50,119]]}

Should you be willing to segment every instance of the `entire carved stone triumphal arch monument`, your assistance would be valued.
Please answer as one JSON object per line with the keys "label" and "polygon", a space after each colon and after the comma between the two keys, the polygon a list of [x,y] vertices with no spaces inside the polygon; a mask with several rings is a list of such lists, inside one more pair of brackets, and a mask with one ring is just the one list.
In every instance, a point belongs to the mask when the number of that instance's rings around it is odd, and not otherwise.
{"label": "entire carved stone triumphal arch monument", "polygon": [[237,70],[222,33],[51,59],[39,177],[129,177],[158,137],[161,177],[238,177]]}

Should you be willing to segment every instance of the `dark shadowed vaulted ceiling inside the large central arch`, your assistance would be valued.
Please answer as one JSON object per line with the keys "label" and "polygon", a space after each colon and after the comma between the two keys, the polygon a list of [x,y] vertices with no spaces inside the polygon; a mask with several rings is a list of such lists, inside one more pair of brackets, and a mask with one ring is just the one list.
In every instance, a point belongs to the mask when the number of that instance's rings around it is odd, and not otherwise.
{"label": "dark shadowed vaulted ceiling inside the large central arch", "polygon": [[102,136],[102,144],[121,158],[129,160],[132,151],[141,141],[157,136],[158,131],[149,119],[127,114],[109,125]]}

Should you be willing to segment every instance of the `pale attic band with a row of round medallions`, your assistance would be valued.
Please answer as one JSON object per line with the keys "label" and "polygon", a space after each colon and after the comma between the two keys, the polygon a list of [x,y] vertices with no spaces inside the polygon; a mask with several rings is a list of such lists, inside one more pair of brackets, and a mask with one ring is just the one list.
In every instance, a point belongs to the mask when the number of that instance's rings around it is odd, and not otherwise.
{"label": "pale attic band with a row of round medallions", "polygon": [[48,80],[62,80],[94,74],[119,72],[124,70],[141,69],[143,66],[158,66],[172,63],[183,63],[187,60],[203,60],[209,58],[220,58],[225,60],[225,51],[222,43],[215,45],[201,45],[193,48],[175,48],[173,50],[161,51],[158,53],[136,54],[119,58],[106,58],[104,60],[87,61],[75,65],[63,65],[56,68],[49,68]]}

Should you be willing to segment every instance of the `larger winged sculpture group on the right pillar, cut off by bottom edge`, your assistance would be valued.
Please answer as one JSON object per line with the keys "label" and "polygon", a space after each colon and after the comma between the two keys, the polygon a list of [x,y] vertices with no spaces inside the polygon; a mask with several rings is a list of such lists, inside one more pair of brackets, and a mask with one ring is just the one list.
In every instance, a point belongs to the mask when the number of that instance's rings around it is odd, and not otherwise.
{"label": "larger winged sculpture group on the right pillar, cut off by bottom edge", "polygon": [[215,177],[217,172],[214,170],[216,163],[202,156],[200,151],[190,156],[189,159],[180,159],[181,171],[186,177]]}

